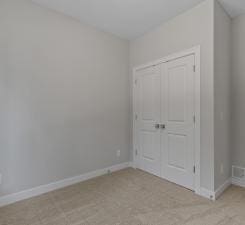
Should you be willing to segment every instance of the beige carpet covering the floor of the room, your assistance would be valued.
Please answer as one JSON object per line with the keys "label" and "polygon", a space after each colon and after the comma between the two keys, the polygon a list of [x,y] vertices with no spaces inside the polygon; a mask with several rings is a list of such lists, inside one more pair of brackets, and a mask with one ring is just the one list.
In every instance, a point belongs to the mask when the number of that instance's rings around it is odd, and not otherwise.
{"label": "beige carpet covering the floor of the room", "polygon": [[0,208],[0,225],[242,225],[245,189],[216,202],[126,169]]}

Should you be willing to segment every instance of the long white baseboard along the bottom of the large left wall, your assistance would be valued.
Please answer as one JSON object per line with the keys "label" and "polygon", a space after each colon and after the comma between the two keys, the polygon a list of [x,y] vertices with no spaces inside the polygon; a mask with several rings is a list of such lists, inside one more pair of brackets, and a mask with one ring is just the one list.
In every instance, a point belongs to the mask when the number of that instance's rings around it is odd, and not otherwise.
{"label": "long white baseboard along the bottom of the large left wall", "polygon": [[92,179],[94,177],[98,177],[98,176],[102,176],[104,174],[107,174],[108,171],[110,172],[115,172],[118,170],[122,170],[128,167],[132,167],[132,163],[131,162],[125,162],[122,164],[117,164],[108,168],[104,168],[104,169],[99,169],[96,171],[92,171],[86,174],[82,174],[79,176],[75,176],[75,177],[71,177],[71,178],[67,178],[65,180],[61,180],[61,181],[57,181],[54,183],[50,183],[50,184],[46,184],[46,185],[42,185],[42,186],[38,186],[29,190],[25,190],[25,191],[21,191],[18,193],[14,193],[14,194],[10,194],[10,195],[6,195],[3,197],[0,197],[0,207],[2,206],[6,206],[24,199],[28,199],[31,197],[35,197],[50,191],[54,191],[60,188],[64,188],[76,183],[80,183],[82,181],[86,181],[89,179]]}

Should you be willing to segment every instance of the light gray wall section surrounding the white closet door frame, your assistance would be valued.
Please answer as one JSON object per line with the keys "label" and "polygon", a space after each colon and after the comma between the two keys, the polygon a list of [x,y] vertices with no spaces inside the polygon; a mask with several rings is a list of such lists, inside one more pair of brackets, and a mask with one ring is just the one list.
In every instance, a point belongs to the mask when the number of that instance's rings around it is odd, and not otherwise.
{"label": "light gray wall section surrounding the white closet door frame", "polygon": [[130,43],[131,69],[201,45],[201,186],[209,190],[214,189],[213,8],[212,0],[204,1]]}

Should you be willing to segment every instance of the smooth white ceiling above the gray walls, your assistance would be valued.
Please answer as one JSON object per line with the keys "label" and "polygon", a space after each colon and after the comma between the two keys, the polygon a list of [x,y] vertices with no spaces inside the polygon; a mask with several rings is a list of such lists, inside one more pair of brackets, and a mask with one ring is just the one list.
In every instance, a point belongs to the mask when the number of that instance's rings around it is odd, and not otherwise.
{"label": "smooth white ceiling above the gray walls", "polygon": [[[203,0],[33,0],[103,31],[133,39]],[[245,12],[245,0],[220,0],[231,16]]]}

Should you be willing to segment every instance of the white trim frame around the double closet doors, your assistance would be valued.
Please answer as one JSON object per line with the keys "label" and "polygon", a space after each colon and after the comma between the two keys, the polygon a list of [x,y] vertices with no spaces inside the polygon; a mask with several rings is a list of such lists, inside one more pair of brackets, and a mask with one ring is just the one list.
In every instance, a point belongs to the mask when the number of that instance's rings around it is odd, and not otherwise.
{"label": "white trim frame around the double closet doors", "polygon": [[136,115],[138,113],[138,107],[137,107],[137,71],[141,69],[145,69],[150,66],[158,65],[161,63],[166,63],[168,61],[185,57],[188,55],[194,55],[195,56],[195,193],[200,195],[200,174],[201,174],[201,167],[200,167],[200,157],[201,157],[201,146],[200,146],[200,124],[201,124],[201,68],[200,68],[200,52],[201,48],[200,46],[195,46],[193,48],[184,50],[179,53],[174,53],[169,56],[166,56],[164,58],[149,62],[147,64],[143,64],[140,66],[137,66],[133,69],[133,161],[134,166],[137,167],[138,165],[138,157],[137,157],[137,151],[139,149],[138,143],[137,143],[137,129],[136,129]]}

